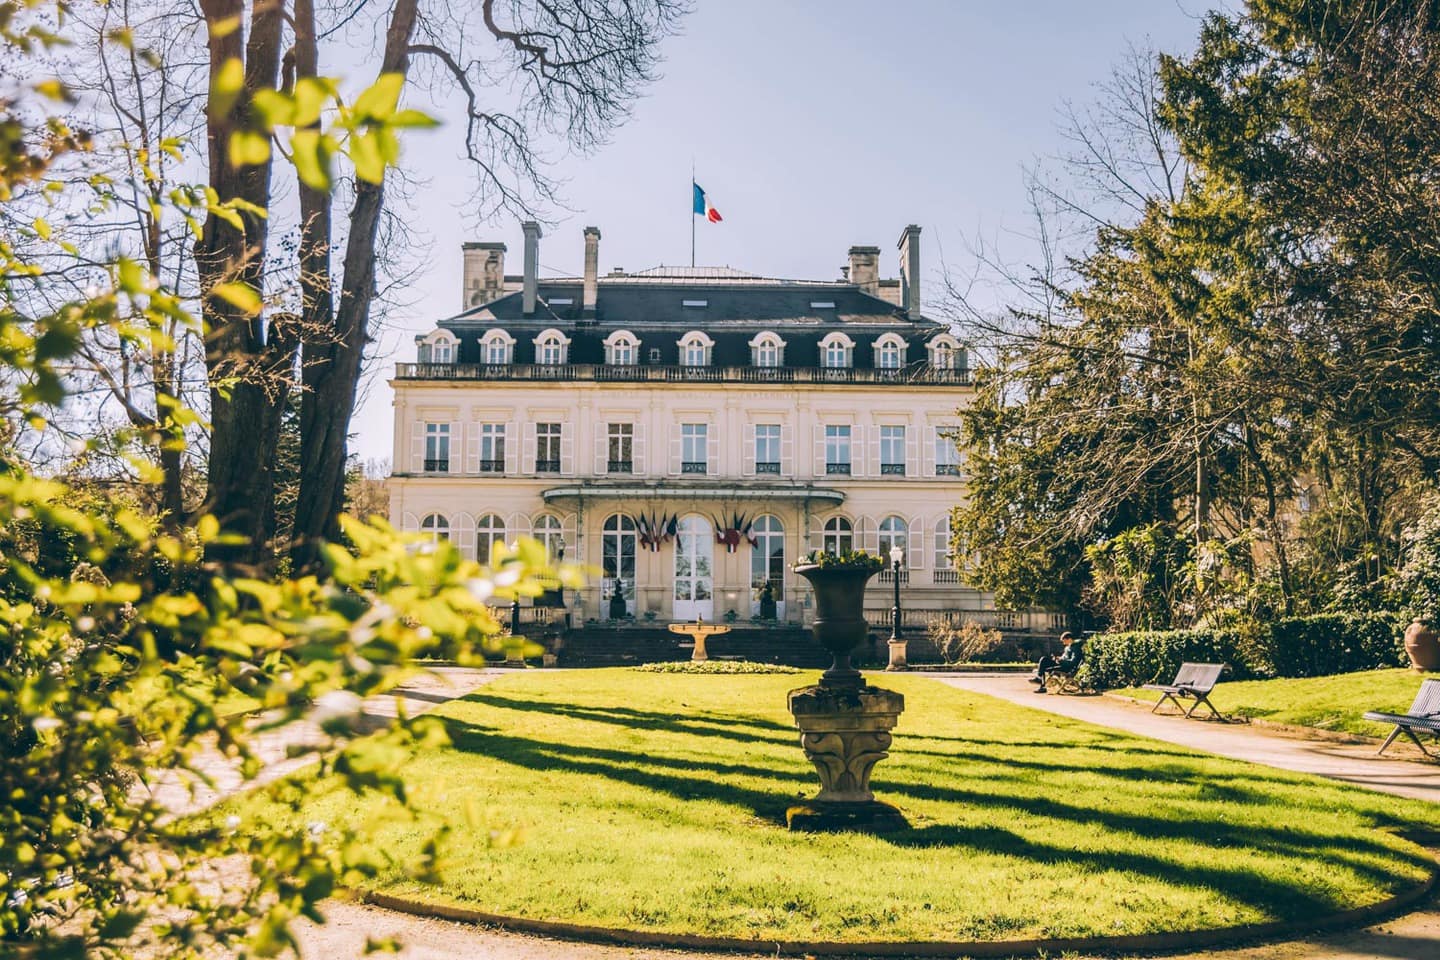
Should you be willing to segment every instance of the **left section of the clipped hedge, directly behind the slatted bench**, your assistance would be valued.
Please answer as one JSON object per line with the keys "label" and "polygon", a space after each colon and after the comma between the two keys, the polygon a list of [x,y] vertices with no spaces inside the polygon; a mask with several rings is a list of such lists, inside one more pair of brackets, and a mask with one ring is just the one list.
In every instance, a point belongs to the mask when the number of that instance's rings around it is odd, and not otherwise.
{"label": "left section of the clipped hedge, directly behind the slatted bench", "polygon": [[1238,630],[1136,630],[1087,643],[1084,669],[1102,688],[1168,682],[1184,662],[1227,664],[1227,679],[1254,676]]}

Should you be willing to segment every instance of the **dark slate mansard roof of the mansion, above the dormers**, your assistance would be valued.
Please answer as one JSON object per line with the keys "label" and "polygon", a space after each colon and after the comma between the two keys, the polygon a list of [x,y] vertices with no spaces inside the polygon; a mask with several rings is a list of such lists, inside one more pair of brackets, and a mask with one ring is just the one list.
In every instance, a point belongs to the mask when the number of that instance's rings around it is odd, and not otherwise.
{"label": "dark slate mansard roof of the mansion, above the dormers", "polygon": [[[847,282],[769,279],[730,268],[655,268],[600,276],[596,289],[593,318],[583,315],[583,282],[564,278],[539,282],[531,317],[524,315],[523,294],[516,291],[442,320],[439,327],[459,338],[458,363],[480,363],[480,337],[501,328],[516,338],[517,364],[536,363],[533,341],[541,330],[556,328],[570,338],[570,363],[596,364],[605,363],[605,338],[628,330],[641,341],[638,361],[645,366],[680,364],[677,341],[700,330],[714,340],[711,364],[717,367],[749,366],[750,340],[766,330],[785,340],[786,367],[821,366],[821,340],[844,331],[855,344],[855,368],[874,367],[874,341],[886,332],[909,343],[907,363],[924,360],[924,344],[946,332],[943,324],[912,320],[890,301]],[[706,305],[687,307],[685,301]]]}

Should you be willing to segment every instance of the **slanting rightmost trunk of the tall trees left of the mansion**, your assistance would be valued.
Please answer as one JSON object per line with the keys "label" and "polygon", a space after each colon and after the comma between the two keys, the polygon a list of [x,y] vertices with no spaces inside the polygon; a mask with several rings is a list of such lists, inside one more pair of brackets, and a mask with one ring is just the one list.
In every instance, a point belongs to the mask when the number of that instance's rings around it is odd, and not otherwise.
{"label": "slanting rightmost trunk of the tall trees left of the mansion", "polygon": [[[396,3],[386,32],[382,73],[403,75],[409,71],[416,4],[418,0]],[[297,66],[301,62],[297,46]],[[383,181],[357,181],[354,207],[350,212],[350,232],[346,239],[338,309],[333,324],[324,330],[307,325],[304,331],[305,396],[300,413],[300,497],[295,502],[295,538],[291,553],[297,570],[310,567],[317,557],[320,541],[338,533],[336,520],[344,507],[346,439],[364,364],[364,347],[370,340],[374,243],[383,207]],[[328,258],[328,206],[323,219],[307,216],[305,225],[311,227],[311,240],[315,243],[311,253],[318,266],[321,230],[324,255]],[[325,275],[328,276],[328,269]],[[314,312],[317,321],[328,318],[328,284],[324,296],[317,292],[314,302],[307,301],[305,311],[307,315]]]}

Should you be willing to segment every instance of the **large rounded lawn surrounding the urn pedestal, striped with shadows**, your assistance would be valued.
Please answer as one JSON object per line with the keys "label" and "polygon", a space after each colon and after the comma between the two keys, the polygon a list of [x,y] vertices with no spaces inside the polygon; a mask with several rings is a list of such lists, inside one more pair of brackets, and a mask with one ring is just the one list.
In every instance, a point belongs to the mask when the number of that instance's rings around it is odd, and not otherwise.
{"label": "large rounded lawn surrounding the urn pedestal, striped with shadows", "polygon": [[[880,799],[913,829],[791,833],[818,787],[785,711],[802,676],[626,669],[505,676],[442,705],[454,746],[406,764],[455,826],[439,887],[408,878],[433,823],[310,784],[292,823],[369,822],[380,887],[629,930],[799,940],[1012,940],[1312,918],[1416,884],[1394,830],[1426,805],[883,676],[907,710]],[[242,828],[243,829],[243,828]],[[523,842],[487,838],[520,830]]]}

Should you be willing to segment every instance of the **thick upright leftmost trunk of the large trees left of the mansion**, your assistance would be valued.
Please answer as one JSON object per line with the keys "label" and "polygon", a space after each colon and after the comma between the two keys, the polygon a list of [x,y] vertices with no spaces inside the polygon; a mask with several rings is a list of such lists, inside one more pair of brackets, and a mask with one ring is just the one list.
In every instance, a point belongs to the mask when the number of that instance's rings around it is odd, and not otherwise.
{"label": "thick upright leftmost trunk of the large trees left of the mansion", "polygon": [[[284,6],[279,0],[258,0],[248,42],[246,32],[233,26],[242,17],[242,0],[202,0],[202,10],[210,30],[212,83],[226,62],[240,60],[245,66],[243,88],[230,109],[220,114],[212,107],[207,115],[210,187],[222,201],[239,199],[264,209],[271,199],[271,161],[233,167],[228,148],[230,134],[249,125],[251,95],[275,88]],[[226,27],[216,30],[220,23]],[[264,292],[268,222],[243,212],[239,216],[242,226],[236,229],[210,214],[196,243],[206,370],[210,377],[210,463],[204,508],[219,518],[226,533],[243,538],[240,545],[212,548],[212,556],[258,563],[268,551],[265,530],[274,501],[272,465],[294,348],[287,357],[285,338],[266,338],[262,317],[251,317],[210,292],[216,284],[233,281]],[[281,379],[268,381],[274,374],[281,374]]]}

